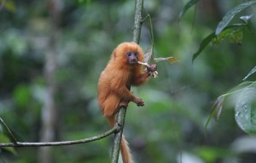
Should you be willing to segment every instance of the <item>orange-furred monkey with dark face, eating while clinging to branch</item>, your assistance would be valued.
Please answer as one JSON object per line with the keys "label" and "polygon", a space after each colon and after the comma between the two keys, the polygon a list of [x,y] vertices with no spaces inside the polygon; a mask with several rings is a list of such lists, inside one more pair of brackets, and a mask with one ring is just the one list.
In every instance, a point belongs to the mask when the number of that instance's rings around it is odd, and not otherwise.
{"label": "orange-furred monkey with dark face, eating while clinging to branch", "polygon": [[[97,98],[103,116],[111,127],[115,123],[115,114],[120,106],[127,108],[129,102],[143,106],[142,98],[138,98],[127,87],[140,86],[157,70],[156,65],[142,70],[143,49],[136,42],[122,42],[113,50],[108,65],[98,80]],[[133,162],[125,137],[121,139],[121,155],[124,163]]]}

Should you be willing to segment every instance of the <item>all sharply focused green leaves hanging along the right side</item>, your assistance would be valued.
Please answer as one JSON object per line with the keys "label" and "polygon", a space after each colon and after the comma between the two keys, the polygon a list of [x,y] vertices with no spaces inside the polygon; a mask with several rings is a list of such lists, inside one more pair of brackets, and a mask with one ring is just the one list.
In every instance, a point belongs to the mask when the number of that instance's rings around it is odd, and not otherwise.
{"label": "all sharply focused green leaves hanging along the right side", "polygon": [[[191,8],[198,0],[191,0],[185,5],[183,11],[180,13],[179,17],[182,18],[183,14]],[[193,54],[192,62],[201,54],[201,52],[207,48],[207,46],[212,42],[212,44],[219,44],[225,38],[228,38],[230,42],[241,45],[243,39],[243,31],[245,29],[253,33],[253,24],[251,22],[253,14],[246,14],[239,17],[238,23],[230,23],[237,14],[240,14],[245,8],[251,7],[256,1],[247,1],[241,3],[235,8],[230,9],[227,14],[224,15],[223,19],[218,23],[215,31],[212,31],[207,37],[205,37],[200,44],[200,48]],[[244,80],[247,80],[249,76],[252,76],[256,71],[256,66],[251,70]],[[212,117],[216,121],[219,120],[219,116],[222,113],[224,102],[229,100],[230,97],[236,96],[236,100],[232,98],[232,103],[235,109],[235,119],[237,125],[242,131],[249,134],[256,133],[256,82],[242,82],[238,86],[232,88],[229,92],[224,93],[219,96],[212,106],[212,112],[209,116],[205,131]]]}

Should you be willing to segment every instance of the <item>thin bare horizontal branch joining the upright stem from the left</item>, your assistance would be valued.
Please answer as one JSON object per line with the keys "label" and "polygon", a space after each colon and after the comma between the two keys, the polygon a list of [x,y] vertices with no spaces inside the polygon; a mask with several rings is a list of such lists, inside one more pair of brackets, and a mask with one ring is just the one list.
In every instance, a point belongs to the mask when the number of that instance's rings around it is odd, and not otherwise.
{"label": "thin bare horizontal branch joining the upright stem from the left", "polygon": [[104,132],[101,135],[94,136],[91,138],[84,138],[79,140],[72,140],[72,141],[63,141],[63,142],[49,142],[49,143],[26,143],[26,142],[16,142],[16,143],[0,143],[0,147],[43,147],[43,146],[62,146],[62,145],[74,145],[79,143],[89,143],[93,142],[109,135],[117,132],[119,130],[118,127],[113,127],[108,132]]}

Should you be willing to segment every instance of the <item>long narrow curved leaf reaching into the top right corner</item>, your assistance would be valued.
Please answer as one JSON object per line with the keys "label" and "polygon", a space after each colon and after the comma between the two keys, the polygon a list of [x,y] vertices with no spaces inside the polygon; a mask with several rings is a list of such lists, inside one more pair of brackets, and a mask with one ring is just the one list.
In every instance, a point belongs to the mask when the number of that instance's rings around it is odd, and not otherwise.
{"label": "long narrow curved leaf reaching into the top right corner", "polygon": [[246,3],[241,3],[240,5],[236,6],[236,8],[232,8],[227,14],[224,15],[223,19],[218,23],[216,28],[215,34],[218,34],[224,30],[224,28],[229,25],[230,21],[236,16],[236,14],[240,13],[241,10],[247,8],[248,6],[256,3],[256,1],[248,1]]}

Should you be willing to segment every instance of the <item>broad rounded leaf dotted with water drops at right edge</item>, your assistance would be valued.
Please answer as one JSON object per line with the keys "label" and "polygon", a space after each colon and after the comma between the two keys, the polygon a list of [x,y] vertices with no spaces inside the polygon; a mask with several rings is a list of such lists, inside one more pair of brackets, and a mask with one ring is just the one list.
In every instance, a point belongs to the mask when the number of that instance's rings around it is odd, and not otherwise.
{"label": "broad rounded leaf dotted with water drops at right edge", "polygon": [[242,131],[256,133],[256,85],[244,88],[237,98],[235,119]]}

